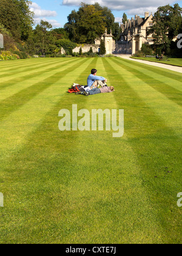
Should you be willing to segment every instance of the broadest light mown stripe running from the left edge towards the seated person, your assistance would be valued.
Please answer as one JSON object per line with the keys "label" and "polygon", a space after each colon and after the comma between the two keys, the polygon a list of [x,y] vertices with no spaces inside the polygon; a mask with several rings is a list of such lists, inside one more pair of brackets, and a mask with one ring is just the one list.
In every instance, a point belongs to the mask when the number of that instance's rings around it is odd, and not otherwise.
{"label": "broadest light mown stripe running from the left edge towards the seated person", "polygon": [[[79,73],[91,62],[90,59],[79,61],[79,64],[72,70],[75,79]],[[0,149],[1,160],[8,157],[10,152],[16,152],[28,133],[39,126],[42,118],[66,93],[68,85],[74,80],[70,72],[64,73],[61,79],[52,81],[52,86],[37,94],[33,99],[22,105],[15,112],[10,113],[2,122],[0,127]],[[65,91],[64,91],[65,90]],[[11,135],[11,137],[10,137]]]}

